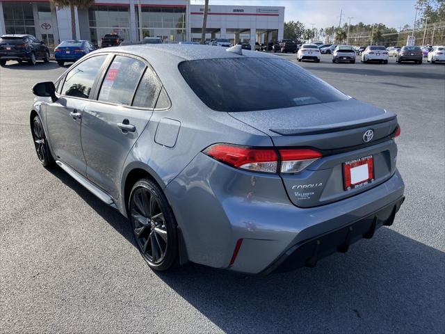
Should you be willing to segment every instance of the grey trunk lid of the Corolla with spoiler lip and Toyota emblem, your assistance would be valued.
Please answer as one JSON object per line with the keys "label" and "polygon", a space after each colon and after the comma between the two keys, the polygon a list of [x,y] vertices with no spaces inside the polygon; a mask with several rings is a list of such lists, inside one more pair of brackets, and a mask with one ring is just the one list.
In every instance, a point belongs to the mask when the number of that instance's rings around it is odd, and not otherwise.
{"label": "grey trunk lid of the Corolla with spoiler lip and Toyota emblem", "polygon": [[[279,148],[314,148],[323,157],[297,174],[282,174],[293,204],[315,207],[354,196],[385,182],[396,170],[391,134],[396,115],[355,99],[286,109],[230,113],[268,134]],[[364,134],[373,130],[368,143]],[[372,156],[373,180],[346,190],[345,163]],[[371,174],[370,174],[371,175]]]}

